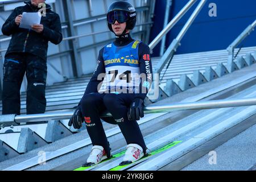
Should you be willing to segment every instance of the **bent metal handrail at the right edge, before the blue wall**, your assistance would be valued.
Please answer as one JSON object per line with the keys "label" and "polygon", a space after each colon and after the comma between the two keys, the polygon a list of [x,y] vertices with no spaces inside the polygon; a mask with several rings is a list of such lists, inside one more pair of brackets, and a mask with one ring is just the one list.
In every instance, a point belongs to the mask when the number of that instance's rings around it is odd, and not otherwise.
{"label": "bent metal handrail at the right edge, before the blue wall", "polygon": [[232,65],[232,62],[234,60],[234,49],[241,42],[243,42],[243,40],[245,40],[245,38],[247,38],[247,36],[249,36],[252,31],[254,31],[255,26],[256,26],[256,20],[254,20],[253,23],[249,24],[249,26],[247,26],[245,28],[245,30],[243,30],[243,32],[227,48],[227,51],[229,52],[229,55],[228,55],[228,65],[229,66]]}

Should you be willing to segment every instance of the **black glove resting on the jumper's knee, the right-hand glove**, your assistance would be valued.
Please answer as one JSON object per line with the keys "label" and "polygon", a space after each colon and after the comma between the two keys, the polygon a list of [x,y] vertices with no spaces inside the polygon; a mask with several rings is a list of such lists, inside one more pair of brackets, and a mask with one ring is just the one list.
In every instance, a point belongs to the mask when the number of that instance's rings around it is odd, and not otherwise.
{"label": "black glove resting on the jumper's knee, the right-hand glove", "polygon": [[130,121],[139,120],[144,117],[144,101],[141,98],[135,98],[128,110],[128,119]]}

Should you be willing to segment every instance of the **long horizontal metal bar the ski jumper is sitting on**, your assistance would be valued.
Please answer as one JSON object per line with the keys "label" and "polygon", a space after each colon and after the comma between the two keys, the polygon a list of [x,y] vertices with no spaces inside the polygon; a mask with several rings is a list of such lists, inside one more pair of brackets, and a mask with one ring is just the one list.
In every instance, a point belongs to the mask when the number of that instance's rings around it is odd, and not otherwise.
{"label": "long horizontal metal bar the ski jumper is sitting on", "polygon": [[[171,105],[152,105],[144,107],[144,113],[167,113],[171,111],[181,110],[201,110],[201,109],[217,109],[224,107],[240,107],[240,106],[251,106],[256,105],[256,98],[242,98],[238,100],[212,100],[212,101],[199,101],[199,102],[188,102],[188,103],[176,103]],[[18,125],[23,122],[39,122],[46,120],[55,119],[69,119],[73,115],[72,111],[55,112],[55,113],[44,113],[44,114],[30,114],[30,115],[10,115],[10,118],[14,118],[14,121],[1,121],[0,125]],[[3,115],[8,118],[9,115]],[[103,113],[101,117],[111,117],[109,112]],[[10,124],[11,123],[11,124]],[[6,125],[7,124],[7,125]]]}

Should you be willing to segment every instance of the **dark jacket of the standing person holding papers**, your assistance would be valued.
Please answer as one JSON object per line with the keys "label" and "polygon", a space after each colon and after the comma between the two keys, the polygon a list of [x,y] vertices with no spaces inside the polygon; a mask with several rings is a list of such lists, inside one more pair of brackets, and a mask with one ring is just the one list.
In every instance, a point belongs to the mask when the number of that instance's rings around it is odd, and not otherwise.
{"label": "dark jacket of the standing person holding papers", "polygon": [[39,8],[31,5],[31,2],[24,2],[25,6],[16,7],[2,26],[3,35],[11,36],[11,41],[6,55],[11,52],[28,52],[47,59],[48,41],[59,44],[63,37],[61,34],[60,17],[46,4],[46,16],[42,16],[40,24],[44,30],[38,34],[34,30],[19,28],[15,23],[16,16],[23,12],[38,12]]}

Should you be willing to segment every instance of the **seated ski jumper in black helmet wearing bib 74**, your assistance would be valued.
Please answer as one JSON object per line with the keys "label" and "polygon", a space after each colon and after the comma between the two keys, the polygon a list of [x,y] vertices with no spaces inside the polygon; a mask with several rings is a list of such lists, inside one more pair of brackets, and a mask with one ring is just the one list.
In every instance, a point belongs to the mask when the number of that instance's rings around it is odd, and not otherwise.
{"label": "seated ski jumper in black helmet wearing bib 74", "polygon": [[[97,67],[86,87],[84,96],[69,121],[77,129],[85,121],[92,140],[92,151],[84,166],[92,166],[110,158],[110,146],[102,127],[100,115],[108,110],[113,118],[106,122],[118,125],[127,142],[127,150],[120,165],[129,164],[146,155],[146,144],[136,120],[144,117],[143,100],[152,80],[150,48],[130,36],[136,23],[136,11],[126,1],[110,5],[107,14],[108,27],[115,34],[115,41],[100,50]],[[98,92],[106,74],[108,87],[105,93]],[[142,80],[139,74],[144,74]],[[140,80],[141,79],[141,80]],[[146,92],[142,92],[146,90]]]}

